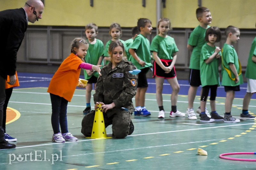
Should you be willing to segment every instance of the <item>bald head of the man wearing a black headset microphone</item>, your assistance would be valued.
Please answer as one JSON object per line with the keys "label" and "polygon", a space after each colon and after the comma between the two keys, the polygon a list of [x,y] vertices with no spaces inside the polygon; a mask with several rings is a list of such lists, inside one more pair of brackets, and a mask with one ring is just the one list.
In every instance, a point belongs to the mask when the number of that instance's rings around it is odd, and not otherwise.
{"label": "bald head of the man wearing a black headset microphone", "polygon": [[40,0],[28,0],[23,7],[28,15],[28,21],[35,23],[36,20],[42,19],[44,4]]}

